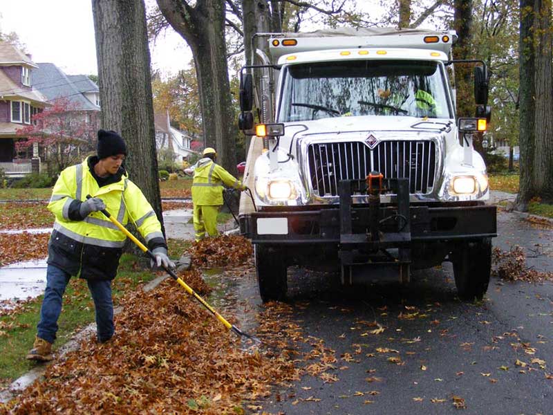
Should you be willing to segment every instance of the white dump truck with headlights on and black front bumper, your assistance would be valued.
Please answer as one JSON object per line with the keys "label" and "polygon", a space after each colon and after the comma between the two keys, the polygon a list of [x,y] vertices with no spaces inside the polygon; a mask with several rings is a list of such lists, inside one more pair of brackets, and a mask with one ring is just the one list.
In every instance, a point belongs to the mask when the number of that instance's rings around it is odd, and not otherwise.
{"label": "white dump truck with headlights on and black front bumper", "polygon": [[[453,31],[256,37],[270,52],[256,50],[241,74],[252,197],[239,221],[263,301],[285,298],[293,265],[337,266],[342,284],[407,283],[442,261],[460,298],[482,298],[496,236],[473,146],[491,113],[485,63],[453,59]],[[474,66],[474,118],[456,118],[458,63]]]}

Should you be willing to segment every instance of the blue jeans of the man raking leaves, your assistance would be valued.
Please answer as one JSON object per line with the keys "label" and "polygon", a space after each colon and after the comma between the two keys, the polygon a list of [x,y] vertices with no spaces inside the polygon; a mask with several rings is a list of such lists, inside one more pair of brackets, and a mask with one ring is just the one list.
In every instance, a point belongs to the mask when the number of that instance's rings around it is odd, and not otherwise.
{"label": "blue jeans of the man raking leaves", "polygon": [[[39,338],[53,343],[57,333],[57,319],[62,313],[62,297],[71,275],[57,266],[49,265],[46,270],[46,290],[40,308],[40,322],[37,326]],[[113,336],[113,302],[111,281],[87,281],[96,311],[97,338],[106,342]]]}

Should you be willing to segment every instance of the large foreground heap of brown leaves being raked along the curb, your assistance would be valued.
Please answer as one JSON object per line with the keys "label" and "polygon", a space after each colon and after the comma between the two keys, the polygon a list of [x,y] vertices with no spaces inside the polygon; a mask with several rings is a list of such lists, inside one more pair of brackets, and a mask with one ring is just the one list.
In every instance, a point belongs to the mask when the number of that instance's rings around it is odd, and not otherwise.
{"label": "large foreground heap of brown leaves being raked along the curb", "polygon": [[0,412],[243,414],[254,409],[244,400],[297,377],[279,351],[242,351],[236,336],[172,280],[123,303],[110,342],[84,340]]}

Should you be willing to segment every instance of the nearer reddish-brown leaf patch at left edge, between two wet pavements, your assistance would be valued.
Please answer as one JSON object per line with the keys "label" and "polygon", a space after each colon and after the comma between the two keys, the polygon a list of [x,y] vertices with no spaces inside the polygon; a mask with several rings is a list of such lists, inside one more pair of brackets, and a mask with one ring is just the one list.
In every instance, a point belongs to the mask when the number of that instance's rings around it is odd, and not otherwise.
{"label": "nearer reddish-brown leaf patch at left edge, between two wet pavements", "polygon": [[30,259],[46,258],[50,234],[0,233],[0,266]]}

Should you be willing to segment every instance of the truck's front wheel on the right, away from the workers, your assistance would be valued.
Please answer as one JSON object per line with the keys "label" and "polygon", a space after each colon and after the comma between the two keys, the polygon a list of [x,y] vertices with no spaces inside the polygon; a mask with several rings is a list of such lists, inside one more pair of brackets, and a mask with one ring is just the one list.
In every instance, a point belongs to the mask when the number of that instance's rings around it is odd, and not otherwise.
{"label": "truck's front wheel on the right, away from the workers", "polygon": [[462,242],[453,251],[453,274],[460,299],[482,299],[491,270],[491,239]]}

